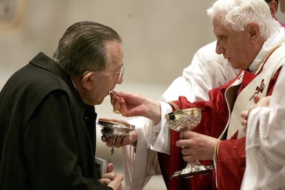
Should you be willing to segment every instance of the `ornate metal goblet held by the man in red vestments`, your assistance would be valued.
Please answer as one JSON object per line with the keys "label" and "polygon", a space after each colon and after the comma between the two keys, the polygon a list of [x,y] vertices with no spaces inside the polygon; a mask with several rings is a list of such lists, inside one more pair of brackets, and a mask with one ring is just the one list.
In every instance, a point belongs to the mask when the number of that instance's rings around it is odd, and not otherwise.
{"label": "ornate metal goblet held by the man in red vestments", "polygon": [[[202,118],[200,107],[191,107],[188,109],[180,109],[165,115],[167,124],[174,131],[192,131],[200,123]],[[198,174],[209,173],[214,168],[212,165],[201,165],[198,160],[187,162],[186,167],[180,171],[173,173],[171,178],[189,178]]]}

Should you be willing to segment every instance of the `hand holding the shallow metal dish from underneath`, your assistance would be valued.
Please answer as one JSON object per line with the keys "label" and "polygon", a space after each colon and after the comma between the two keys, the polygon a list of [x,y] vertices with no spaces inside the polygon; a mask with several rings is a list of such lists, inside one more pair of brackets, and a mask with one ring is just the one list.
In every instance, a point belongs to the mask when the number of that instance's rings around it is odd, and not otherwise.
{"label": "hand holding the shallow metal dish from underneath", "polygon": [[114,142],[114,138],[107,138],[106,136],[101,136],[101,140],[103,142],[106,142],[106,145],[108,147],[113,147],[115,143],[116,148],[123,147],[125,145],[133,145],[136,143],[136,140],[138,140],[138,133],[136,130],[130,131],[129,136],[125,136],[123,139],[122,138],[116,138]]}

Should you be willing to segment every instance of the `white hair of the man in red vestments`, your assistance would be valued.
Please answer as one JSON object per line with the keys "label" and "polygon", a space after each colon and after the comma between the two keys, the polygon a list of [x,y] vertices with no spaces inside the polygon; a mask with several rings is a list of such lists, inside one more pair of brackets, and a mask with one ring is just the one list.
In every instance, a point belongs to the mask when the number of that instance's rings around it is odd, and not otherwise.
{"label": "white hair of the man in red vestments", "polygon": [[218,19],[228,30],[244,31],[249,23],[260,26],[260,35],[266,40],[277,32],[280,23],[272,15],[264,0],[217,0],[207,10],[211,19]]}

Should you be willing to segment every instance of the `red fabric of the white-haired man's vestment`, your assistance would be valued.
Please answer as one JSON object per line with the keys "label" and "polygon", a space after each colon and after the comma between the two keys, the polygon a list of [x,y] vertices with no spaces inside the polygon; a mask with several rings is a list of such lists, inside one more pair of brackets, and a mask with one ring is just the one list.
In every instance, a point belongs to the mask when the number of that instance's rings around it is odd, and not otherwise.
{"label": "red fabric of the white-haired man's vestment", "polygon": [[[268,85],[267,95],[272,94],[279,71],[280,68],[271,79]],[[209,92],[209,101],[196,101],[191,103],[187,101],[187,98],[184,96],[180,96],[178,101],[173,102],[178,105],[179,109],[189,107],[202,108],[202,120],[193,131],[219,138],[226,127],[226,122],[230,115],[224,92],[239,75],[240,74],[221,87],[211,89]],[[253,78],[257,75],[258,74],[255,75],[246,71],[239,92],[246,87],[246,85],[251,83]],[[186,162],[182,160],[181,148],[176,147],[176,141],[178,139],[179,133],[171,131],[170,156],[158,154],[162,176],[167,185],[167,189],[216,189],[215,174],[217,175],[218,189],[240,189],[245,169],[245,138],[237,139],[237,135],[235,134],[231,139],[222,140],[220,142],[216,171],[186,179],[170,179],[174,171],[183,169],[186,164]],[[212,160],[200,162],[204,165],[213,164]]]}

